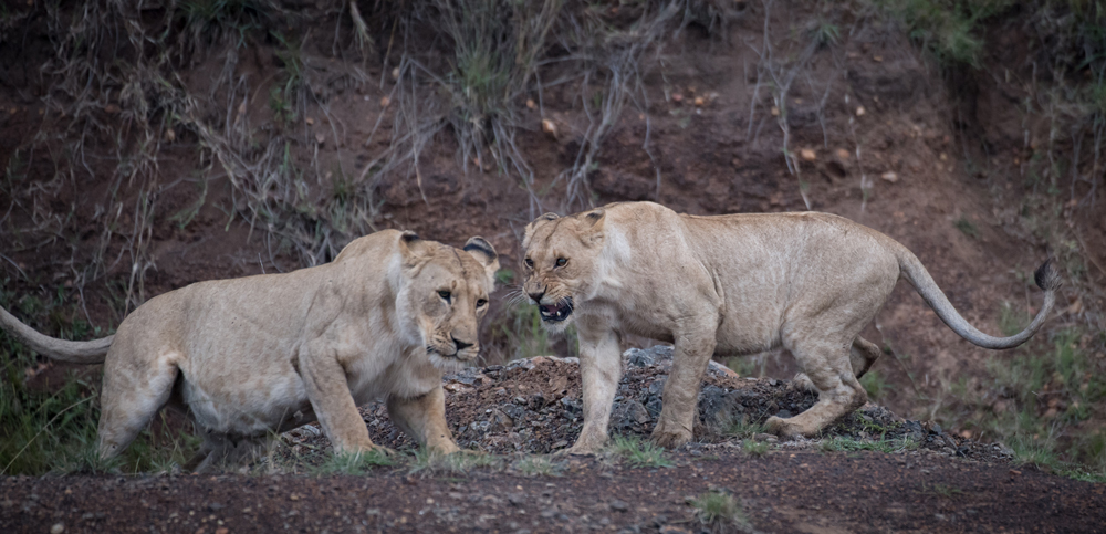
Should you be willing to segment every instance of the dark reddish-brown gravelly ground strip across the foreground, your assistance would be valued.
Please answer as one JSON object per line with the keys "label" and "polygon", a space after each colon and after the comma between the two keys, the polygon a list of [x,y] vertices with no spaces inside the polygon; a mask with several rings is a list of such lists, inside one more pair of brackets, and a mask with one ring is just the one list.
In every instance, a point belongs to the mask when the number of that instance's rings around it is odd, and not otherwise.
{"label": "dark reddish-brown gravelly ground strip across the foreground", "polygon": [[[1103,532],[1106,485],[928,454],[681,452],[636,469],[571,459],[556,478],[9,477],[4,532],[703,532],[720,490],[752,532]],[[56,530],[62,525],[64,531]],[[734,531],[730,525],[730,531]],[[709,532],[709,531],[706,531]]]}

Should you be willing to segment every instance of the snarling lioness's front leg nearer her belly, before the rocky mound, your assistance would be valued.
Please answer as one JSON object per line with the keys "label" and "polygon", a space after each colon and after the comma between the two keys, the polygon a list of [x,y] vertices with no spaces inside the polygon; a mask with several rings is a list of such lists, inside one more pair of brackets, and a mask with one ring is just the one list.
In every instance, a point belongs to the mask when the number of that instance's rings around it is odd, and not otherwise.
{"label": "snarling lioness's front leg nearer her belly, before the rocky mound", "polygon": [[675,449],[691,441],[699,383],[714,354],[714,343],[713,332],[677,337],[660,417],[650,437],[654,443]]}

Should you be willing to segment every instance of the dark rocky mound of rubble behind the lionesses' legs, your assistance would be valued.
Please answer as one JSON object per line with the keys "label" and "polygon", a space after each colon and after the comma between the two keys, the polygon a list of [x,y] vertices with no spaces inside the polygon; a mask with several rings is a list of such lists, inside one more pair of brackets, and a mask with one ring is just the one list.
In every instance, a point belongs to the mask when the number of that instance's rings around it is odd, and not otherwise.
{"label": "dark rocky mound of rubble behind the lionesses' legs", "polygon": [[[647,438],[660,413],[672,348],[632,348],[623,354],[623,377],[611,417],[612,436]],[[461,448],[504,453],[550,453],[571,446],[583,425],[577,358],[539,356],[505,366],[468,368],[446,376],[446,416]],[[905,420],[867,404],[828,427],[820,439],[779,442],[760,433],[771,416],[791,417],[817,396],[789,380],[743,378],[711,362],[699,394],[698,423],[690,450],[742,447],[768,441],[786,449],[931,450],[979,461],[1004,461],[1010,452],[942,431],[938,425]],[[380,402],[362,408],[373,441],[393,449],[414,443],[388,420]],[[285,433],[293,449],[328,447],[317,427]]]}

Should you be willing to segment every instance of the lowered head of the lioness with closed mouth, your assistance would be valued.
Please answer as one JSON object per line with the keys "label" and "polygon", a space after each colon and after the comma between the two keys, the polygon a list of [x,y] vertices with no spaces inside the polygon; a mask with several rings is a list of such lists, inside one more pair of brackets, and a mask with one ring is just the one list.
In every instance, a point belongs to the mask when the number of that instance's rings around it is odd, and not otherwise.
{"label": "lowered head of the lioness with closed mouth", "polygon": [[399,241],[404,283],[397,312],[408,336],[419,338],[430,363],[442,370],[476,359],[480,320],[499,270],[495,249],[483,238],[470,239],[463,249],[413,232],[404,232]]}

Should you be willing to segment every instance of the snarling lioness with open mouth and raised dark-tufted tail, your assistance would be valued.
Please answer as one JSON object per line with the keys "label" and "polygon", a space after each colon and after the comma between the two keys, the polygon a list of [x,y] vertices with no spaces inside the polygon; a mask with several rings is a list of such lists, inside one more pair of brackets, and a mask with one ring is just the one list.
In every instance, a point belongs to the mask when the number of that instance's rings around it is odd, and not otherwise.
{"label": "snarling lioness with open mouth and raised dark-tufted tail", "polygon": [[575,317],[584,390],[584,428],[571,453],[591,453],[607,438],[622,375],[618,333],[675,343],[664,408],[653,430],[662,447],[691,439],[699,383],[711,355],[784,346],[818,391],[811,409],[772,417],[770,431],[813,436],[864,405],[856,380],[879,357],[857,334],[905,278],[963,338],[1009,348],[1032,336],[1055,301],[1060,279],[1045,262],[1036,282],[1044,305],[1011,337],[968,324],[921,262],[875,230],[828,213],[695,217],[651,202],[614,203],[526,226],[523,290],[545,326]]}

